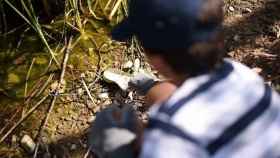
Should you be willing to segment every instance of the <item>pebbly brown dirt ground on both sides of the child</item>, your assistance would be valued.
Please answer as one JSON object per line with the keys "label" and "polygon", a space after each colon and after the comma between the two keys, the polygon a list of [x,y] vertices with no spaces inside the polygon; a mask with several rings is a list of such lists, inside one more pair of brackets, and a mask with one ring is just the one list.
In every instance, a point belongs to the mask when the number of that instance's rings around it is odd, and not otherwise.
{"label": "pebbly brown dirt ground on both sides of the child", "polygon": [[[245,63],[280,92],[280,1],[226,0],[224,26],[226,56]],[[132,53],[138,51],[137,48],[133,49],[136,50],[132,50]],[[122,51],[121,48],[115,52],[118,53],[114,55],[112,67],[122,69],[126,61],[134,61],[137,58],[141,60],[142,66],[146,66],[139,53],[127,55],[129,52]],[[105,68],[99,65],[99,69],[102,72]],[[117,86],[104,82],[100,73],[95,71],[96,67],[87,71],[68,67],[67,74],[72,76],[68,77],[68,80],[71,82],[65,90],[67,93],[59,97],[51,113],[47,129],[41,138],[44,145],[40,148],[38,157],[94,157],[88,151],[88,127],[96,112],[112,102],[134,104],[139,117],[147,120],[143,98],[123,93]],[[84,77],[81,78],[81,75]],[[93,95],[93,101],[84,89],[83,81]],[[21,147],[20,138],[24,134],[33,138],[36,136],[41,122],[34,120],[41,120],[45,112],[46,107],[42,107],[13,132],[4,145],[0,145],[1,158],[32,157]],[[13,110],[0,113],[1,118],[5,118],[4,122],[0,123],[0,129],[12,121],[12,116],[15,116],[14,120],[20,118],[14,114]]]}

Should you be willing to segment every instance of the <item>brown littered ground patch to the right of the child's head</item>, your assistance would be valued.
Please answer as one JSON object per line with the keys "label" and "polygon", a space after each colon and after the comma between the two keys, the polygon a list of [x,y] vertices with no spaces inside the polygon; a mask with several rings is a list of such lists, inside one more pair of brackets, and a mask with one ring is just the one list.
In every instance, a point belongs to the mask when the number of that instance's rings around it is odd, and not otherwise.
{"label": "brown littered ground patch to the right of the child's head", "polygon": [[[225,19],[228,55],[261,70],[274,86],[280,84],[280,1],[247,0],[227,3]],[[278,89],[280,90],[280,89]]]}

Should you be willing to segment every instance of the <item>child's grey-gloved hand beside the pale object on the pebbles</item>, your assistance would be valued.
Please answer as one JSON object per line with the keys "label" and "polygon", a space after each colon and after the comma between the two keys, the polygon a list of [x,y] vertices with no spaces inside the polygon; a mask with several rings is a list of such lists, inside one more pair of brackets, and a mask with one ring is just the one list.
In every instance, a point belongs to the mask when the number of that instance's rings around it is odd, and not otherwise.
{"label": "child's grey-gloved hand beside the pale object on the pebbles", "polygon": [[128,85],[140,95],[145,95],[158,82],[158,79],[145,72],[140,71],[131,77]]}

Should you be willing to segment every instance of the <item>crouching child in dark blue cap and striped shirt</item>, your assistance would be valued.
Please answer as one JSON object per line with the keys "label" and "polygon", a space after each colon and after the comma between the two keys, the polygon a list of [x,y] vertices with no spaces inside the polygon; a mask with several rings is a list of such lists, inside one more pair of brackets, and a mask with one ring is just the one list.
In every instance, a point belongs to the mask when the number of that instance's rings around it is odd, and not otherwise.
{"label": "crouching child in dark blue cap and striped shirt", "polygon": [[[224,58],[222,22],[221,0],[131,0],[128,18],[112,36],[136,36],[170,82],[132,79],[131,86],[154,103],[144,134],[136,119],[125,117],[131,110],[105,110],[92,125],[93,151],[110,158],[279,158],[280,97],[250,68]],[[113,127],[119,130],[108,131]]]}

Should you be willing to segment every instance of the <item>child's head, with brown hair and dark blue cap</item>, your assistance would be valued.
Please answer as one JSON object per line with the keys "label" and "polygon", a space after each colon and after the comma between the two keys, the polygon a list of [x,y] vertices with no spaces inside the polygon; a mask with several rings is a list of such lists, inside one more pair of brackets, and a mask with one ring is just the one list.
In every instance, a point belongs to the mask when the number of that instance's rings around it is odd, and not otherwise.
{"label": "child's head, with brown hair and dark blue cap", "polygon": [[163,75],[196,76],[215,69],[223,50],[222,0],[130,0],[114,39],[135,35]]}

